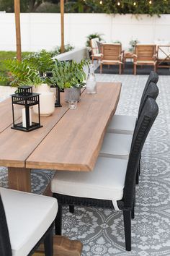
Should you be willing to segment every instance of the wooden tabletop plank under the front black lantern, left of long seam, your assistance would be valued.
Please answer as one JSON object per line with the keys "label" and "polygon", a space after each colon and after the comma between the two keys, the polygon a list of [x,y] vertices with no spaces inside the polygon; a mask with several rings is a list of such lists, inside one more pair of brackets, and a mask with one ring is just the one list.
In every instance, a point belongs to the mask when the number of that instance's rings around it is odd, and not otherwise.
{"label": "wooden tabletop plank under the front black lantern, left of long seam", "polygon": [[[41,117],[42,128],[36,129],[32,132],[22,132],[11,129],[11,125],[0,133],[0,165],[9,167],[25,167],[25,161],[37,148],[37,145],[42,142],[45,136],[48,135],[55,124],[62,118],[66,111],[68,111],[68,103],[63,99],[64,93],[61,93],[61,108],[55,108],[55,112],[51,116]],[[7,103],[8,101],[6,101]],[[6,108],[9,108],[7,104]],[[1,105],[4,108],[4,102]],[[11,113],[12,111],[10,111]],[[12,116],[9,119],[12,119]],[[32,115],[33,118],[33,115]],[[3,123],[6,121],[3,120]],[[10,124],[10,121],[9,121]],[[4,127],[6,124],[4,125]],[[2,126],[3,127],[3,126]]]}

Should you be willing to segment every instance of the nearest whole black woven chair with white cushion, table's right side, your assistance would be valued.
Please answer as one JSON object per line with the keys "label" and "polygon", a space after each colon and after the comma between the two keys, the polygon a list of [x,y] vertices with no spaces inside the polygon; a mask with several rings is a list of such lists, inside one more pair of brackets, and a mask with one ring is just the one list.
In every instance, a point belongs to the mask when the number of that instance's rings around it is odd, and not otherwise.
{"label": "nearest whole black woven chair with white cushion, table's right side", "polygon": [[91,172],[57,171],[51,182],[53,197],[58,199],[58,214],[55,218],[56,234],[61,234],[63,205],[122,210],[125,247],[128,251],[131,250],[135,176],[143,144],[157,115],[156,101],[148,98],[135,127],[129,160],[99,157]]}

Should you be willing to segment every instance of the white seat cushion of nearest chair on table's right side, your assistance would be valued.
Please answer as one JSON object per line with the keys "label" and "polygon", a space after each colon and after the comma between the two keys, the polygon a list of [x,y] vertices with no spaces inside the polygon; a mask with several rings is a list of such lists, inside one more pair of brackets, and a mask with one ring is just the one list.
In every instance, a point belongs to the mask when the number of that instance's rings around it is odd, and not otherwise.
{"label": "white seat cushion of nearest chair on table's right side", "polygon": [[102,200],[121,200],[128,161],[97,158],[93,171],[57,171],[51,191],[61,195]]}

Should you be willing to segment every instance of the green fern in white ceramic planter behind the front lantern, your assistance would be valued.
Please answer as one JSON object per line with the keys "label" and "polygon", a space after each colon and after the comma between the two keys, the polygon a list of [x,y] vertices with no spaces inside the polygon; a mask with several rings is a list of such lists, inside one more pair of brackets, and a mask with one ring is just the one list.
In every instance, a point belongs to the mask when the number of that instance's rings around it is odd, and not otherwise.
{"label": "green fern in white ceramic planter behind the front lantern", "polygon": [[[40,93],[40,115],[49,116],[52,114],[55,109],[54,93],[50,91],[52,81],[45,76],[46,72],[53,69],[54,60],[51,59],[51,55],[42,50],[38,54],[31,54],[22,61],[7,59],[4,61],[4,65],[11,74],[8,78],[9,85],[17,87],[21,85],[35,86],[36,93]],[[1,80],[3,79],[1,77]],[[34,111],[37,113],[37,106],[34,107]]]}

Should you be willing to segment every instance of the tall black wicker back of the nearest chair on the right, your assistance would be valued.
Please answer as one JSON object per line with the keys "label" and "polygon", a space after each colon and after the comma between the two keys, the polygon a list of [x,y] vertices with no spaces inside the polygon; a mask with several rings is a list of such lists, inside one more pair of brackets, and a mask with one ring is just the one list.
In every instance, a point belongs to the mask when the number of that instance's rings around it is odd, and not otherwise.
{"label": "tall black wicker back of the nearest chair on the right", "polygon": [[138,170],[138,161],[140,159],[140,153],[143,148],[148,132],[150,131],[153,122],[158,115],[158,105],[153,98],[148,98],[143,111],[140,114],[138,123],[135,127],[133,142],[130,150],[130,157],[128,161],[128,168],[125,177],[124,188],[124,208],[133,207],[133,197],[135,194],[135,176]]}

